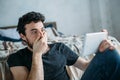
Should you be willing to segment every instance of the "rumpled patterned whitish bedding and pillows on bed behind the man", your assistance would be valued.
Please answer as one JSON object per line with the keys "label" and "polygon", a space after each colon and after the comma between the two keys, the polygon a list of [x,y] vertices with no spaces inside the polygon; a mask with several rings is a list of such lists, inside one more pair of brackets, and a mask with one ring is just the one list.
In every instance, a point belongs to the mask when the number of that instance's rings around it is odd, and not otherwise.
{"label": "rumpled patterned whitish bedding and pillows on bed behind the man", "polygon": [[[69,48],[71,48],[74,52],[76,52],[76,54],[81,56],[84,36],[82,36],[82,35],[81,36],[74,36],[74,35],[66,36],[63,34],[61,35],[61,33],[58,32],[58,30],[56,28],[55,22],[46,23],[45,27],[46,27],[47,33],[49,33],[48,34],[48,44],[62,42],[64,44],[66,44]],[[5,28],[5,29],[2,28],[2,30],[0,29],[0,35],[2,36],[2,37],[0,36],[0,51],[10,49],[11,50],[10,53],[13,53],[21,48],[26,47],[25,43],[20,40],[20,37],[18,35],[16,35],[17,34],[16,31],[13,31],[14,33],[13,32],[12,33],[14,35],[11,35],[12,34],[11,30],[13,28],[15,29],[16,27]],[[8,29],[10,29],[10,30],[8,30]],[[6,33],[4,33],[4,35],[3,35],[3,32],[7,32],[9,34],[6,35]],[[6,38],[3,38],[3,37],[10,38],[11,40],[9,40],[9,39],[6,40]],[[120,50],[119,41],[112,36],[109,36],[108,38],[114,43],[114,45],[116,45],[118,47],[118,51],[119,51]],[[18,41],[14,41],[14,39],[17,39]],[[3,56],[3,54],[0,53],[0,56]],[[91,59],[93,56],[94,55],[92,54],[89,56],[81,56],[81,57],[83,57],[85,59]],[[4,57],[2,57],[2,58],[6,59],[6,57],[8,57],[8,55],[6,55],[6,56],[4,55]],[[68,74],[69,74],[71,80],[80,80],[82,74],[84,73],[83,71],[75,68],[74,66],[69,66],[69,67],[66,66],[66,67],[67,67],[67,71],[68,71]]]}

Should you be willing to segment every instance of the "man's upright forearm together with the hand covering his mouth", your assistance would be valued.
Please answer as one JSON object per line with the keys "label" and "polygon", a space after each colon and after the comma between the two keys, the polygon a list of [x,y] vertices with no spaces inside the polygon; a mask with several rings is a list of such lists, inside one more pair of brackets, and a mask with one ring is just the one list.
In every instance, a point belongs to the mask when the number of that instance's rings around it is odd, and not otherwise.
{"label": "man's upright forearm together with the hand covering his mouth", "polygon": [[47,34],[44,32],[42,38],[38,36],[33,44],[32,67],[27,80],[44,80],[42,54],[47,49]]}

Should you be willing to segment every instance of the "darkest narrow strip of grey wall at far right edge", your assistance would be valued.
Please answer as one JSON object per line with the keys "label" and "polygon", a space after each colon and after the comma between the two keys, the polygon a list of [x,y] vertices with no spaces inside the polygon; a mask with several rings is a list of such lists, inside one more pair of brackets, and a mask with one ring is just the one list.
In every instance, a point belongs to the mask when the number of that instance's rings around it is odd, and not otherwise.
{"label": "darkest narrow strip of grey wall at far right edge", "polygon": [[120,41],[120,0],[109,1],[114,36]]}

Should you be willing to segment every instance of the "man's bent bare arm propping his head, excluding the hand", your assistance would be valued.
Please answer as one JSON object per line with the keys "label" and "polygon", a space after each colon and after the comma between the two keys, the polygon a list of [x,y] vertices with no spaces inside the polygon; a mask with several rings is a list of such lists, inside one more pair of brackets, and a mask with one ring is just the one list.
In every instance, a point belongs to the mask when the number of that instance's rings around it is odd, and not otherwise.
{"label": "man's bent bare arm propping his head, excluding the hand", "polygon": [[[39,57],[39,55],[36,55]],[[31,71],[24,66],[10,68],[14,80],[44,80],[42,58],[33,58]]]}

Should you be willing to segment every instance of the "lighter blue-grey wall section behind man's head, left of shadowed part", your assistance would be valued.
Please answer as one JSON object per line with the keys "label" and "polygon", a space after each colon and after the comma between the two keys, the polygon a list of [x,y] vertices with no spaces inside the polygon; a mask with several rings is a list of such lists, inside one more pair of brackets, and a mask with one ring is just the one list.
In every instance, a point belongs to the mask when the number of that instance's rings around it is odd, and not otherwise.
{"label": "lighter blue-grey wall section behind man's head, left of shadowed part", "polygon": [[0,0],[0,27],[17,25],[26,12],[37,11],[46,22],[56,21],[58,30],[67,34],[92,32],[89,0]]}

